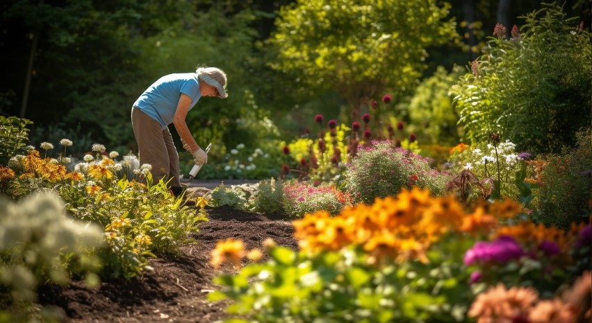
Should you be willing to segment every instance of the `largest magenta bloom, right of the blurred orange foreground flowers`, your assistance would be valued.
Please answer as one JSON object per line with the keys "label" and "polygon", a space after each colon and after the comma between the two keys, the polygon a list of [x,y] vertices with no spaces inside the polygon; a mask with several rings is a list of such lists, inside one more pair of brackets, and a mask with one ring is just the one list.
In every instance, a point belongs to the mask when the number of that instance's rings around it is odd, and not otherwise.
{"label": "largest magenta bloom, right of the blurred orange foreground flowers", "polygon": [[479,241],[467,250],[464,256],[465,265],[471,265],[475,262],[495,261],[506,263],[511,259],[520,259],[524,255],[524,250],[511,236],[500,236],[493,242]]}

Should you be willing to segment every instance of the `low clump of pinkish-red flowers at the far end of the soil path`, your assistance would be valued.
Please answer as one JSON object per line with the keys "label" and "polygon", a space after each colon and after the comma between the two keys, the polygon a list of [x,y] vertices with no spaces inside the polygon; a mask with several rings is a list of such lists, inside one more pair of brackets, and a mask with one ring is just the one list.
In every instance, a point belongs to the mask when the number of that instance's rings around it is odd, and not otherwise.
{"label": "low clump of pinkish-red flowers at the far end of the soil path", "polygon": [[335,186],[310,186],[297,182],[283,186],[281,204],[288,216],[302,218],[306,213],[322,210],[331,214],[339,213],[352,204],[352,198]]}

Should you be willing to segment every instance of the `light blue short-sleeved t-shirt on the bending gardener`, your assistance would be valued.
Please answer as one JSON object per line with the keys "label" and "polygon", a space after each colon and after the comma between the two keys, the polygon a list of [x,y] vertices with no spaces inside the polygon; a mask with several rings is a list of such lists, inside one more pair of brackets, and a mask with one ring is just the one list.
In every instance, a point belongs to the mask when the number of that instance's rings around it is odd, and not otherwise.
{"label": "light blue short-sleeved t-shirt on the bending gardener", "polygon": [[172,123],[181,93],[191,98],[191,110],[202,97],[196,73],[175,73],[159,78],[142,93],[133,106],[161,123],[165,130]]}

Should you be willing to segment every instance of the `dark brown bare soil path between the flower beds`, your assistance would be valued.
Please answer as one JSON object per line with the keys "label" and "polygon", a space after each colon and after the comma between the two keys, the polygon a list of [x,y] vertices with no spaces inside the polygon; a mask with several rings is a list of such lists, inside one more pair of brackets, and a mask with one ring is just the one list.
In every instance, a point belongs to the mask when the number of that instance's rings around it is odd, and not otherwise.
{"label": "dark brown bare soil path between the flower beds", "polygon": [[[197,193],[208,189],[198,188]],[[195,193],[196,191],[194,191]],[[195,209],[197,211],[197,209]],[[265,238],[294,250],[293,226],[281,216],[262,216],[231,207],[206,207],[209,222],[199,223],[195,243],[184,245],[181,254],[158,256],[149,265],[154,270],[131,280],[101,281],[97,288],[83,281],[69,286],[45,286],[39,292],[43,306],[59,306],[65,322],[216,322],[227,318],[229,301],[209,302],[217,286],[217,274],[237,272],[230,264],[215,270],[209,263],[216,241],[240,238],[247,250],[259,247]],[[264,254],[264,259],[268,258]]]}

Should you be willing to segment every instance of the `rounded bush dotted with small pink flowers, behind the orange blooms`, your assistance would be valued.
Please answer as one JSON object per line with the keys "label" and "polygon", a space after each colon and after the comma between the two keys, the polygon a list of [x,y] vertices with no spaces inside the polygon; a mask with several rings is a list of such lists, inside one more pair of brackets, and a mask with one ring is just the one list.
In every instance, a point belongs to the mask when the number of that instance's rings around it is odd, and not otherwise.
{"label": "rounded bush dotted with small pink flowers, behind the orange blooms", "polygon": [[443,193],[450,175],[430,168],[429,162],[429,158],[395,148],[392,141],[372,141],[359,146],[358,155],[347,164],[346,187],[354,201],[366,203],[413,186]]}

